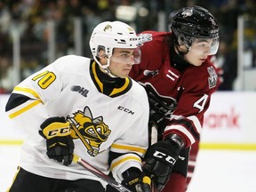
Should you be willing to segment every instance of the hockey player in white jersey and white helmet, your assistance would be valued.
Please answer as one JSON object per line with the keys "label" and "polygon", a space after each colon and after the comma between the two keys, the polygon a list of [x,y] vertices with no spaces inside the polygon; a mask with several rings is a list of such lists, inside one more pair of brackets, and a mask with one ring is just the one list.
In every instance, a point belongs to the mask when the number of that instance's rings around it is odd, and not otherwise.
{"label": "hockey player in white jersey and white helmet", "polygon": [[148,190],[148,98],[128,77],[138,45],[130,26],[102,22],[90,39],[93,60],[61,57],[14,88],[5,110],[28,137],[11,192],[103,192],[106,183],[72,163],[74,153],[132,191]]}

